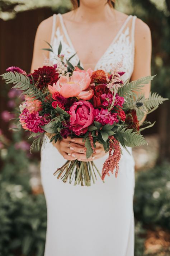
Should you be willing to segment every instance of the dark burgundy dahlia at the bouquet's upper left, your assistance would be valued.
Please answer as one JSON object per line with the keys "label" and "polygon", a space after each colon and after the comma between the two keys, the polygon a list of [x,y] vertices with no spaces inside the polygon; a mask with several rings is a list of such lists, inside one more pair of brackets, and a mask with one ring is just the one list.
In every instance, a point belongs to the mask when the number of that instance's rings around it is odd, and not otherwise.
{"label": "dark burgundy dahlia at the bouquet's upper left", "polygon": [[58,73],[56,69],[51,66],[39,67],[39,69],[38,70],[35,69],[31,75],[34,78],[35,83],[40,76],[40,80],[37,85],[40,89],[42,89],[43,87],[46,87],[48,84],[52,85],[53,83],[56,83],[58,80]]}

